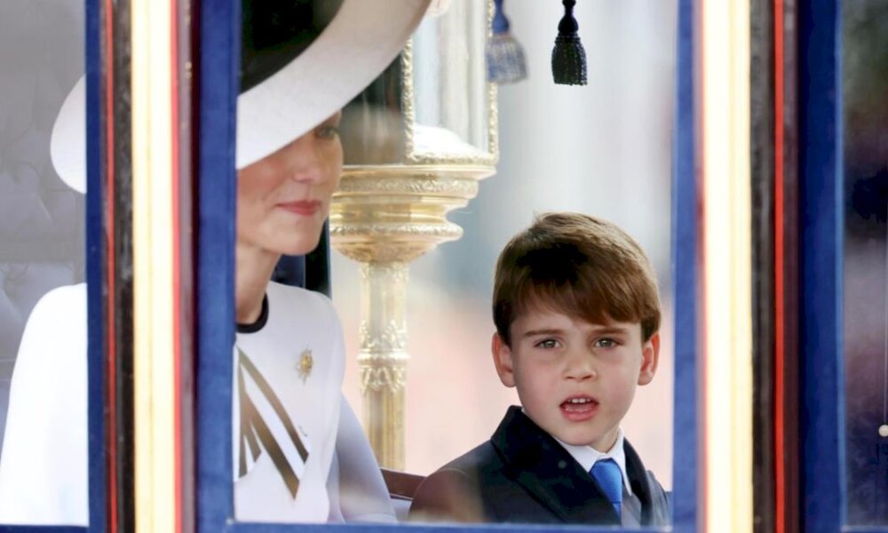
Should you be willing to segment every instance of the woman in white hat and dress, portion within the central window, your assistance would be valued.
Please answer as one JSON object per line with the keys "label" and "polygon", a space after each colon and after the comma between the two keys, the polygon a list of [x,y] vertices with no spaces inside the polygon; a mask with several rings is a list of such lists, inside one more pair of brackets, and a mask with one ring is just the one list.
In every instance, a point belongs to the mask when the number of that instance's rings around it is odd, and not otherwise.
{"label": "woman in white hat and dress, portion within the central window", "polygon": [[[233,435],[238,520],[393,520],[369,445],[360,432],[340,428],[356,423],[342,404],[345,354],[335,310],[317,293],[269,279],[282,254],[317,246],[342,171],[340,108],[395,58],[427,4],[243,4],[233,413],[240,427]],[[360,435],[360,442],[337,444],[337,434],[345,433]],[[344,484],[367,490],[323,489],[337,484],[329,475],[336,472],[337,447],[368,457],[360,474],[341,473]]]}

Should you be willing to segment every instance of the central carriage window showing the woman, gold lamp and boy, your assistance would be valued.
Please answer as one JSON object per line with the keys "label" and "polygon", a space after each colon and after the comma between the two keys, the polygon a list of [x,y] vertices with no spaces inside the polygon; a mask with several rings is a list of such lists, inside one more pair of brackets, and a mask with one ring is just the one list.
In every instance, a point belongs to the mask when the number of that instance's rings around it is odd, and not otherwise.
{"label": "central carriage window showing the woman, gold lamp and boy", "polygon": [[[329,28],[379,17],[379,12],[367,11],[368,4],[342,3],[338,13],[329,13]],[[386,2],[386,9],[391,4]],[[408,4],[418,3],[406,2],[399,12]],[[318,38],[311,46],[294,48],[297,60],[270,60],[270,76],[254,77],[265,60],[290,43],[284,38],[281,43],[287,44],[275,46],[265,33],[257,38],[250,24],[263,23],[258,3],[242,12],[244,28],[233,28],[236,17],[227,19],[233,27],[202,27],[202,54],[212,50],[223,59],[237,53],[226,48],[231,44],[227,32],[243,32],[238,72],[230,69],[232,61],[216,61],[215,56],[201,64],[202,108],[210,101],[236,102],[238,117],[233,139],[230,116],[201,115],[200,209],[202,216],[220,222],[202,224],[198,237],[203,244],[198,259],[197,489],[202,520],[209,527],[448,520],[425,513],[411,516],[411,498],[414,507],[422,494],[431,501],[436,494],[426,485],[433,472],[498,433],[497,424],[519,437],[505,435],[501,448],[533,442],[531,454],[548,449],[552,454],[544,454],[546,458],[559,457],[549,462],[548,473],[540,473],[541,483],[550,474],[555,478],[569,470],[567,475],[591,489],[594,502],[581,513],[591,509],[607,518],[584,522],[657,529],[670,523],[670,360],[675,351],[670,333],[676,307],[669,266],[676,68],[670,51],[675,49],[678,5],[663,6],[654,16],[647,10],[577,8],[575,16],[587,20],[596,36],[586,44],[590,79],[614,79],[632,88],[613,91],[608,87],[614,85],[598,83],[551,87],[545,70],[513,87],[488,84],[481,58],[494,4],[499,3],[433,2],[428,11],[423,8],[414,19],[418,29],[409,28],[398,49],[334,107],[318,102],[343,97],[335,91],[338,84],[366,74],[367,61],[355,61],[350,54],[341,61],[313,63],[309,59],[318,47],[329,44]],[[574,3],[564,4],[569,11]],[[556,7],[509,8],[514,10],[515,32],[526,35],[527,53],[546,51],[542,60],[528,60],[529,65],[549,63],[551,33],[537,28],[535,21],[551,17],[557,28],[566,8]],[[392,14],[386,13],[385,24],[392,23]],[[686,15],[691,20],[689,11]],[[322,35],[323,24],[315,29]],[[400,35],[385,33],[386,38]],[[353,35],[340,31],[330,38],[348,41]],[[254,54],[263,43],[274,52]],[[614,48],[626,52],[622,60],[611,60],[604,52]],[[355,54],[369,52],[366,46],[353,49]],[[690,57],[687,50],[685,56]],[[311,67],[307,72],[312,76],[289,77],[291,64]],[[318,70],[324,68],[329,71]],[[305,74],[298,68],[294,72]],[[318,79],[327,80],[322,91],[308,84],[319,74],[324,76]],[[686,75],[691,77],[689,62]],[[281,86],[281,80],[288,84]],[[272,89],[263,89],[263,84]],[[313,99],[289,99],[286,105],[274,101],[302,93]],[[349,103],[354,94],[358,97]],[[546,115],[535,115],[539,99],[551,102]],[[301,111],[291,113],[289,107]],[[692,111],[685,114],[690,119]],[[551,142],[556,137],[565,140]],[[211,148],[233,145],[236,162],[216,157]],[[324,187],[337,163],[344,166],[334,192]],[[267,277],[262,277],[274,267],[269,257],[276,261],[281,254],[309,252],[319,235],[323,243],[313,215],[327,207],[330,196],[325,194],[331,195],[329,246],[342,252],[332,258],[333,306],[306,290],[266,285]],[[233,200],[236,232],[226,212]],[[519,271],[534,254],[516,254],[513,270],[516,276],[530,276],[531,283],[523,286],[533,290],[512,289],[516,302],[525,298],[526,303],[501,306],[501,331],[491,340],[496,255],[511,235],[543,211],[596,217],[573,220],[582,220],[577,227],[583,232],[591,227],[601,232],[600,242],[615,252],[614,263],[598,265],[590,259],[595,254],[586,244],[599,243],[592,238],[573,247],[553,244],[525,274]],[[571,227],[558,220],[548,223],[559,231]],[[218,243],[223,250],[234,248],[234,254],[211,254],[209,247]],[[543,256],[549,252],[567,255],[546,261]],[[236,267],[225,263],[232,256]],[[210,264],[217,258],[221,265]],[[615,264],[620,267],[608,275],[631,277],[635,285],[628,293],[619,293],[628,286],[623,277],[609,287],[584,278],[583,294],[573,290],[580,283],[575,271]],[[234,280],[222,279],[231,273]],[[536,283],[535,275],[550,281]],[[547,292],[537,294],[537,288]],[[631,306],[624,307],[629,300]],[[509,309],[517,313],[509,315]],[[229,312],[237,322],[236,332],[230,330],[235,338],[231,358],[226,357],[232,348],[229,331],[212,320]],[[531,323],[539,315],[542,325]],[[519,322],[523,330],[515,330]],[[524,348],[519,346],[525,345],[532,355],[520,359]],[[562,349],[566,346],[571,349]],[[685,368],[694,367],[695,350],[690,352]],[[525,370],[519,361],[546,371]],[[613,371],[622,386],[609,391],[600,385],[599,391],[590,385],[605,383],[595,378],[606,371]],[[556,378],[558,388],[535,379],[543,374]],[[345,383],[339,381],[342,376]],[[607,380],[608,386],[612,383]],[[638,385],[645,387],[633,397]],[[688,407],[688,412],[694,409]],[[623,418],[627,410],[630,416]],[[581,422],[578,435],[561,430],[573,422]],[[695,423],[690,426],[694,439]],[[590,427],[599,435],[586,434]],[[601,477],[594,473],[598,463],[606,471]],[[477,476],[475,481],[483,482]],[[384,505],[377,505],[380,484]],[[695,489],[693,493],[695,497]],[[578,495],[585,497],[580,490],[556,490],[555,504]],[[481,499],[470,500],[469,506],[484,503]],[[683,501],[694,508],[693,497]],[[509,503],[525,506],[518,500]],[[555,515],[510,513],[506,520],[552,522],[581,506]],[[495,515],[469,518],[506,521]]]}

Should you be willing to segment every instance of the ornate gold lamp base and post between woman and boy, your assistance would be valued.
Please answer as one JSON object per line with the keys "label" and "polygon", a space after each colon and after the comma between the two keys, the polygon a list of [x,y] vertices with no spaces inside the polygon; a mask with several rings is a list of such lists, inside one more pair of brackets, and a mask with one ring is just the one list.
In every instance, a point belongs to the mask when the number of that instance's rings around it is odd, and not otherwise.
{"label": "ornate gold lamp base and post between woman and boy", "polygon": [[403,470],[408,265],[463,229],[447,213],[478,194],[493,165],[346,167],[330,208],[330,240],[361,263],[358,363],[363,415],[379,464]]}

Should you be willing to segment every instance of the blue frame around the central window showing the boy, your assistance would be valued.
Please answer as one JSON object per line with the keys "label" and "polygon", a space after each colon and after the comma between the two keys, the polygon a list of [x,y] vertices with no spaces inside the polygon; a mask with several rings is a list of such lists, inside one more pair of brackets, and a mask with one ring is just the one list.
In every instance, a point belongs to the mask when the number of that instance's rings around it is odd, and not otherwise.
{"label": "blue frame around the central window showing the boy", "polygon": [[[676,295],[676,410],[673,465],[674,518],[671,530],[693,533],[697,523],[699,319],[696,103],[694,86],[695,0],[678,2],[676,137],[673,144],[673,282]],[[197,354],[197,529],[271,533],[283,530],[329,533],[361,529],[425,531],[614,531],[579,526],[295,525],[234,522],[231,449],[231,390],[234,345],[235,107],[240,60],[240,12],[228,0],[204,0],[200,20],[200,131]],[[211,52],[204,52],[211,51]],[[227,113],[221,112],[226,110]],[[678,334],[680,332],[680,334]],[[662,531],[664,529],[633,529]],[[666,528],[665,530],[670,530]]]}

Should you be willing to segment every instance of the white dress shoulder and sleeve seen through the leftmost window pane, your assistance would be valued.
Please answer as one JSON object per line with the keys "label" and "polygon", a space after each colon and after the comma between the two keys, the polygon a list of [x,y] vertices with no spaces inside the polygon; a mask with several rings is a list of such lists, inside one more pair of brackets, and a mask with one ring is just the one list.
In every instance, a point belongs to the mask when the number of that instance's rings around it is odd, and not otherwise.
{"label": "white dress shoulder and sleeve seen through the leftmost window pane", "polygon": [[86,525],[86,284],[46,293],[15,360],[0,456],[0,523]]}

